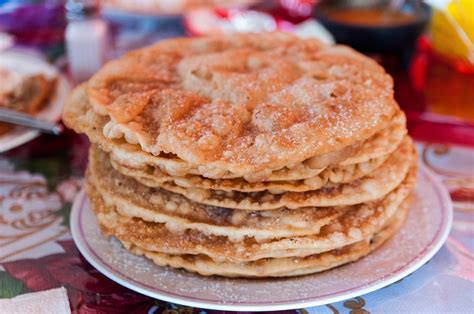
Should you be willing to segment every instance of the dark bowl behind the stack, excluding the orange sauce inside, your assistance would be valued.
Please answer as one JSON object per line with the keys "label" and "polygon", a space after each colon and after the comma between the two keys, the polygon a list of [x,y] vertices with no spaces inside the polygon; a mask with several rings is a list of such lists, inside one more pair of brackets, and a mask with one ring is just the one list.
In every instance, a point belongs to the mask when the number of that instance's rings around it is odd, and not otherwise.
{"label": "dark bowl behind the stack, excluding the orange sauce inside", "polygon": [[410,13],[412,22],[397,25],[357,25],[331,19],[329,13],[340,9],[384,8],[388,1],[329,0],[319,1],[314,17],[334,36],[336,42],[365,53],[398,54],[412,50],[430,18],[430,7],[421,1],[405,1],[400,11]]}

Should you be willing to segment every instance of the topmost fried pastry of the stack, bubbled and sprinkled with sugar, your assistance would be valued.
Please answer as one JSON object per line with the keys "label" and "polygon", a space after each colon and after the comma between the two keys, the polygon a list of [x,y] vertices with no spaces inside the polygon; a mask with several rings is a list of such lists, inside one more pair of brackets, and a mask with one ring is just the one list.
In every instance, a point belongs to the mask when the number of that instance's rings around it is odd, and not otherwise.
{"label": "topmost fried pastry of the stack, bubbled and sprinkled with sugar", "polygon": [[367,139],[398,110],[392,85],[348,47],[275,33],[162,41],[108,63],[88,95],[109,138],[245,175]]}

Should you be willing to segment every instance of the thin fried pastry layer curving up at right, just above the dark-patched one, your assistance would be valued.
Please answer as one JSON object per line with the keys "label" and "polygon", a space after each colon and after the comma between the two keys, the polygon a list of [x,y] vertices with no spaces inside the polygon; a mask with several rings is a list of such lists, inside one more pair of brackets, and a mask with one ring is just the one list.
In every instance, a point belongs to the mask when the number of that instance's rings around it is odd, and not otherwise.
{"label": "thin fried pastry layer curving up at right, just above the dark-patched one", "polygon": [[[382,166],[360,179],[341,183],[326,184],[322,188],[305,192],[269,191],[237,192],[206,190],[197,187],[183,188],[173,183],[163,183],[165,190],[186,196],[195,202],[247,210],[270,210],[280,207],[299,208],[306,206],[352,205],[378,199],[395,189],[405,178],[416,158],[412,141],[406,137],[400,148]],[[140,180],[145,182],[146,180]]]}

